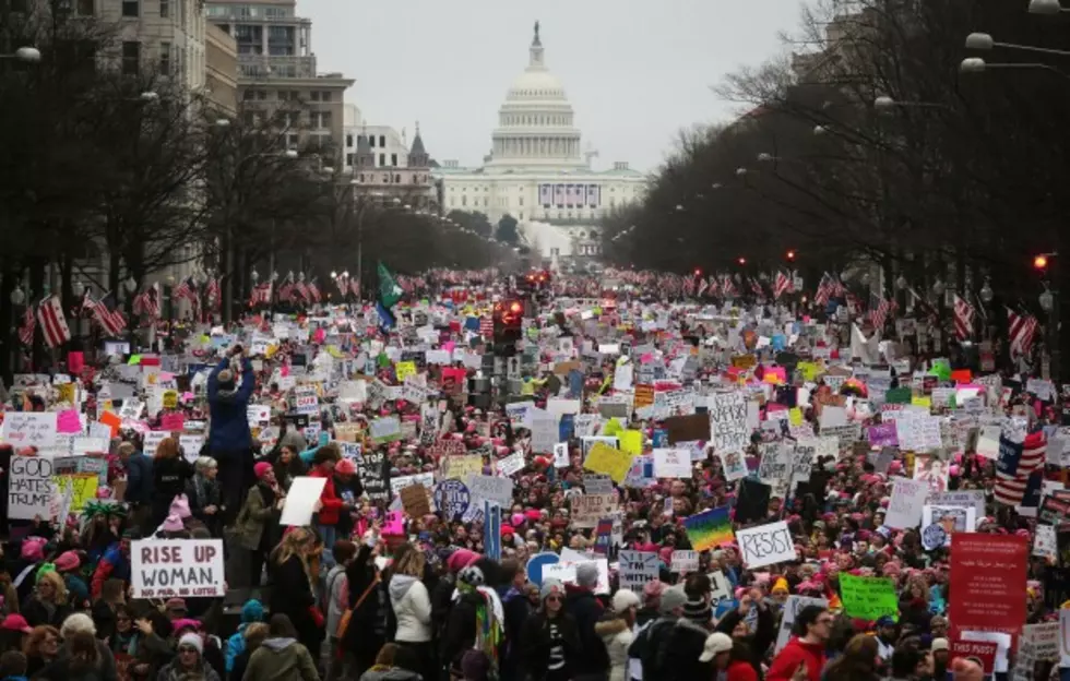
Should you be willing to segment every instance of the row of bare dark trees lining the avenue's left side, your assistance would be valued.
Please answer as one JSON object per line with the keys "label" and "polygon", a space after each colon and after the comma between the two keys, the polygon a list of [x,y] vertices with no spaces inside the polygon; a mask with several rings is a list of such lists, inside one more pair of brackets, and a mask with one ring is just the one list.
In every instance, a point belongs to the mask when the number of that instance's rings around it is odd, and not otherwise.
{"label": "row of bare dark trees lining the avenue's left side", "polygon": [[[335,150],[292,148],[302,103],[222,115],[148,59],[127,63],[119,26],[73,15],[66,0],[15,4],[0,3],[0,373],[23,284],[31,300],[58,289],[70,309],[79,279],[98,294],[131,279],[138,290],[194,261],[238,304],[255,266],[322,283],[357,270],[358,252],[366,273],[377,259],[416,272],[500,255],[430,215],[357,195],[329,171]],[[23,46],[39,60],[11,58]]]}

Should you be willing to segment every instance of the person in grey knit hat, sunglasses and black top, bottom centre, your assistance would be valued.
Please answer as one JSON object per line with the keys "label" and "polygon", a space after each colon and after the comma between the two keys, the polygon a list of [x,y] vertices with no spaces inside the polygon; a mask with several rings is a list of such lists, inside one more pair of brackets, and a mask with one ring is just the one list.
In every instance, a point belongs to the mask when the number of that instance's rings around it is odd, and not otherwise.
{"label": "person in grey knit hat, sunglasses and black top, bottom centre", "polygon": [[583,654],[575,620],[564,611],[564,585],[545,580],[539,589],[540,606],[527,618],[524,634],[522,668],[527,681],[569,681],[579,655]]}

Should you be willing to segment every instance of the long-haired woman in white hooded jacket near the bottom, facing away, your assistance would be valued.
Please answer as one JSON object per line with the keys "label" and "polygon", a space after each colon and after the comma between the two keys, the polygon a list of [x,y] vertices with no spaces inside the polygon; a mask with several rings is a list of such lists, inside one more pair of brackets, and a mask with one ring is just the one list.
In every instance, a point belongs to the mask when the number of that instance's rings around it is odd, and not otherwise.
{"label": "long-haired woman in white hooded jacket near the bottom, facing away", "polygon": [[421,581],[426,559],[423,551],[408,551],[397,561],[390,577],[390,607],[397,620],[394,643],[412,648],[419,659],[419,673],[433,679],[435,647],[431,644],[431,598]]}

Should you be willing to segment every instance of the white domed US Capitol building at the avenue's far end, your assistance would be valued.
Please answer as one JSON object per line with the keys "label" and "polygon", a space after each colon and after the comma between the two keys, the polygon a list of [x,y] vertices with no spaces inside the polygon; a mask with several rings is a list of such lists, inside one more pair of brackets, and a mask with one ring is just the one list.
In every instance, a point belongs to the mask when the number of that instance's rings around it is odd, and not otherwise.
{"label": "white domed US Capitol building at the avenue's far end", "polygon": [[546,68],[535,24],[527,68],[509,88],[482,168],[447,160],[432,170],[441,184],[442,212],[471,211],[497,224],[511,215],[521,238],[557,266],[596,259],[599,218],[639,200],[646,177],[614,163],[596,171],[575,127],[561,81]]}

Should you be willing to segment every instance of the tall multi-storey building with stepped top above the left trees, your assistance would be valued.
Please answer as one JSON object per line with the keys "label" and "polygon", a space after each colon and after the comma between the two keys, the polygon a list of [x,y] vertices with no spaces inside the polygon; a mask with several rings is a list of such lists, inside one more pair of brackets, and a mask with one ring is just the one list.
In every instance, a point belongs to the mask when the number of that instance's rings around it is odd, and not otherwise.
{"label": "tall multi-storey building with stepped top above the left trees", "polygon": [[354,80],[319,73],[312,52],[312,21],[297,15],[295,0],[230,2],[207,0],[207,19],[234,37],[238,51],[238,98],[250,119],[281,107],[287,113],[294,147],[320,148],[341,163],[344,148],[344,95]]}

